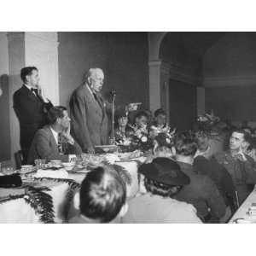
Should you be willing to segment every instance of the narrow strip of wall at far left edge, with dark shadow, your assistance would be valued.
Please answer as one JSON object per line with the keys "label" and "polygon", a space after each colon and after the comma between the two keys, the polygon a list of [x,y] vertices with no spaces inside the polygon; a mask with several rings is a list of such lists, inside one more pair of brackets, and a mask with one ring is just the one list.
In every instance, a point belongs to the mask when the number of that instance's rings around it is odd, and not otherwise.
{"label": "narrow strip of wall at far left edge, with dark shadow", "polygon": [[10,159],[9,127],[9,55],[6,32],[0,32],[0,161]]}

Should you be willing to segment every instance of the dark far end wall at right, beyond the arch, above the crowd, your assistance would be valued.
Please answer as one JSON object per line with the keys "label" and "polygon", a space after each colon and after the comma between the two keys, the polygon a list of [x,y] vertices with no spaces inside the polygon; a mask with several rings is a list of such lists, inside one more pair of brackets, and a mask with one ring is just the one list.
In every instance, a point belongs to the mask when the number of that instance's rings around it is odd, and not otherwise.
{"label": "dark far end wall at right, beyond the arch, above the crowd", "polygon": [[222,119],[256,120],[256,33],[228,32],[203,57],[206,111]]}

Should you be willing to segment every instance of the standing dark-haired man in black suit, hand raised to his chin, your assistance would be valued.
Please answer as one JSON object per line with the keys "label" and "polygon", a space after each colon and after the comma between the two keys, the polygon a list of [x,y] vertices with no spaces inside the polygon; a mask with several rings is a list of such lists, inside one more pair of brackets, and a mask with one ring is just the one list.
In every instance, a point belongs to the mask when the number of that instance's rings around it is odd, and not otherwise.
{"label": "standing dark-haired man in black suit, hand raised to his chin", "polygon": [[45,98],[39,86],[37,67],[23,67],[20,70],[23,85],[14,94],[14,109],[20,122],[20,148],[26,163],[32,139],[46,124],[46,113],[52,103]]}

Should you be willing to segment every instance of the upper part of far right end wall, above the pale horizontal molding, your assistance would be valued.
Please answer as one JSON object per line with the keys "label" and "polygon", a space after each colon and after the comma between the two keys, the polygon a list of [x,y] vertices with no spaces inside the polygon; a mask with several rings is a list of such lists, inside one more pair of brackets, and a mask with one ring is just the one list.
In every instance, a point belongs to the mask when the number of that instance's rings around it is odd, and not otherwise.
{"label": "upper part of far right end wall, above the pale horizontal molding", "polygon": [[203,56],[205,78],[256,75],[256,32],[228,32]]}

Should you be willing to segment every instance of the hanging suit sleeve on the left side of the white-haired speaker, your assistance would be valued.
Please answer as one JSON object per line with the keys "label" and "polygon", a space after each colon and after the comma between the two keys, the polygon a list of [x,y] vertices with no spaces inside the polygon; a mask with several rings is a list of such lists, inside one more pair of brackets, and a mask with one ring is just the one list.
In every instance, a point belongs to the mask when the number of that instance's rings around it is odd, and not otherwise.
{"label": "hanging suit sleeve on the left side of the white-haired speaker", "polygon": [[81,96],[74,94],[70,101],[70,115],[72,119],[72,133],[80,147],[86,151],[92,147],[90,133],[87,127],[86,104]]}

